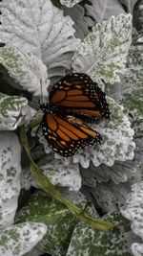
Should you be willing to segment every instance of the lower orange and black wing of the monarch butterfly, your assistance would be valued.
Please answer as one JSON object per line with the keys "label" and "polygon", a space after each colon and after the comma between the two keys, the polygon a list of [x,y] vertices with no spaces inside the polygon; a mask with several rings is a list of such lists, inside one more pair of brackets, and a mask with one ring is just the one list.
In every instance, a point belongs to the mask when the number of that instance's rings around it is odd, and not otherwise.
{"label": "lower orange and black wing of the monarch butterfly", "polygon": [[101,135],[86,126],[82,120],[70,115],[64,118],[46,113],[42,130],[51,149],[62,156],[72,156],[80,148],[100,143]]}

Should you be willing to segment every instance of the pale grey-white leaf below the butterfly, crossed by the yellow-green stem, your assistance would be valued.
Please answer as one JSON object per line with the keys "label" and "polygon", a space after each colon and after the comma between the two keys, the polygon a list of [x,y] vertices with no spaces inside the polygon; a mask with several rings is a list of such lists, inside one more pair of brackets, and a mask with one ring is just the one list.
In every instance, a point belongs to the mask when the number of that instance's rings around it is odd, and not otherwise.
{"label": "pale grey-white leaf below the butterfly, crossed by the yellow-green stem", "polygon": [[[50,178],[53,185],[69,187],[72,191],[79,191],[81,188],[81,175],[77,164],[66,165],[52,155],[47,155],[38,162],[38,166],[43,174]],[[22,187],[26,190],[31,186],[37,187],[32,176],[30,168],[24,169],[21,176]]]}

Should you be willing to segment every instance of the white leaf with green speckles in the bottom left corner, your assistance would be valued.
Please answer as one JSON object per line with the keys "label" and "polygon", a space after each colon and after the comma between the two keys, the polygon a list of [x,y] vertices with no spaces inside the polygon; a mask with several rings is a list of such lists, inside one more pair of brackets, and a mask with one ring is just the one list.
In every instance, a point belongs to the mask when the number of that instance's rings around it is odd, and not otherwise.
{"label": "white leaf with green speckles in the bottom left corner", "polygon": [[22,256],[42,240],[47,227],[42,223],[25,222],[9,226],[0,232],[0,255]]}

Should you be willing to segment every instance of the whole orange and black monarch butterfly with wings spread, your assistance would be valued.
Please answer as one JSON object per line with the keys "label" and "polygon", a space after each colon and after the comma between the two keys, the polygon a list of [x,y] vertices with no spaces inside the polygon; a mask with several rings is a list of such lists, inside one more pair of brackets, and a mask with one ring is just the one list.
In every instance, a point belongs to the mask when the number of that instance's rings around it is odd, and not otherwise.
{"label": "whole orange and black monarch butterfly with wings spread", "polygon": [[102,136],[86,123],[110,118],[105,93],[86,74],[73,73],[51,88],[50,103],[42,104],[42,130],[53,151],[72,156],[79,148],[100,143]]}

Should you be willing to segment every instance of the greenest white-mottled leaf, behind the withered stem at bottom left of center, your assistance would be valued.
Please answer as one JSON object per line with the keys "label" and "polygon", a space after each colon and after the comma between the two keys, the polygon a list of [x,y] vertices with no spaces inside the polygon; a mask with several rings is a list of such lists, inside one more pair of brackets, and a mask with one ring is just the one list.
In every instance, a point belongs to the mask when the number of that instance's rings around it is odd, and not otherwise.
{"label": "greenest white-mottled leaf, behind the withered stem at bottom left of center", "polygon": [[52,255],[59,255],[68,247],[77,220],[63,204],[44,193],[37,193],[19,213],[17,221],[45,223],[47,234],[40,246]]}

